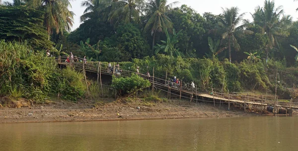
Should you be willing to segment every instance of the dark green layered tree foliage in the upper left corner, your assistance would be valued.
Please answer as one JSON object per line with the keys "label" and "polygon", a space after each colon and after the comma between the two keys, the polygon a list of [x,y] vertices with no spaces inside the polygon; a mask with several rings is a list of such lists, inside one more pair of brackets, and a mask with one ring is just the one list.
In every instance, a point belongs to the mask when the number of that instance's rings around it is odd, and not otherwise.
{"label": "dark green layered tree foliage in the upper left corner", "polygon": [[24,6],[0,5],[0,39],[7,41],[28,41],[33,48],[49,49],[52,42],[48,40],[42,26],[43,12]]}

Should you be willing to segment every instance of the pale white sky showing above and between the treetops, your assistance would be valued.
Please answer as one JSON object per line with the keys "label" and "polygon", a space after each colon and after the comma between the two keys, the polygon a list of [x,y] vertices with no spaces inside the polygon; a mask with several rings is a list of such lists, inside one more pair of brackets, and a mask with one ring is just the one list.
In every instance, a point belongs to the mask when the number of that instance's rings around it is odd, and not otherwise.
{"label": "pale white sky showing above and between the treetops", "polygon": [[[2,0],[6,1],[6,0]],[[12,0],[7,0],[12,1]],[[79,17],[83,14],[84,7],[81,7],[81,2],[83,0],[71,0],[72,8],[74,11],[74,26],[72,30],[79,27],[81,22],[79,21]],[[178,1],[179,3],[175,6],[181,6],[182,4],[186,4],[193,9],[195,9],[198,13],[203,15],[204,12],[212,12],[213,14],[222,13],[223,8],[229,8],[232,6],[237,6],[240,9],[240,13],[246,12],[244,16],[245,19],[249,19],[252,21],[250,13],[254,12],[254,9],[257,6],[263,6],[265,0],[168,0],[168,2]],[[293,16],[293,20],[297,20],[298,18],[298,1],[294,0],[275,0],[275,5],[283,6],[285,14],[289,14]]]}

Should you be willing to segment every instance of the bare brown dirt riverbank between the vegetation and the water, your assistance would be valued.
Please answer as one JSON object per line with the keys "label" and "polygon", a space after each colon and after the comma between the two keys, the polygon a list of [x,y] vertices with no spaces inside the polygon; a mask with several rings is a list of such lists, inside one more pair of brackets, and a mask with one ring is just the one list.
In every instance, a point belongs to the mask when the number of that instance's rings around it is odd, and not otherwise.
{"label": "bare brown dirt riverbank between the vegetation and the water", "polygon": [[77,122],[109,120],[146,120],[199,117],[257,116],[232,107],[227,111],[219,104],[195,103],[186,100],[166,102],[122,99],[117,101],[50,101],[46,104],[21,108],[0,108],[0,123]]}

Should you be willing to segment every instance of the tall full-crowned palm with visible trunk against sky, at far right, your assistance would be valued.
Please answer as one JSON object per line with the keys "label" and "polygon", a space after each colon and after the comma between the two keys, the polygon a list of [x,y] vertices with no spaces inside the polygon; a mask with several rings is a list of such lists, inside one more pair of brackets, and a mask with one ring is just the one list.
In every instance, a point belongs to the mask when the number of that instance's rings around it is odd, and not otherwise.
{"label": "tall full-crowned palm with visible trunk against sky, at far right", "polygon": [[276,8],[274,1],[265,0],[264,7],[257,7],[252,14],[254,23],[264,29],[269,39],[269,44],[266,48],[266,63],[268,61],[269,50],[273,49],[276,45],[279,46],[277,37],[288,36],[289,34],[285,28],[292,22],[292,18],[290,16],[283,16],[280,19],[283,13],[282,6]]}

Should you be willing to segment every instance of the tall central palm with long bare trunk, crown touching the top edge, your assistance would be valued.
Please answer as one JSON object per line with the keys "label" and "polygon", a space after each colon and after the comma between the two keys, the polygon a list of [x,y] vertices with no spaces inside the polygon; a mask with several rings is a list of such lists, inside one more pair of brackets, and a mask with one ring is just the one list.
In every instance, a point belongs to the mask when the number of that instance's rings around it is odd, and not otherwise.
{"label": "tall central palm with long bare trunk, crown touching the top edge", "polygon": [[144,30],[150,30],[153,35],[152,40],[152,53],[154,54],[154,43],[156,32],[162,32],[164,29],[172,29],[173,23],[171,19],[166,15],[172,5],[176,4],[177,1],[167,4],[167,0],[149,0],[146,4],[145,12],[147,13],[148,20]]}

